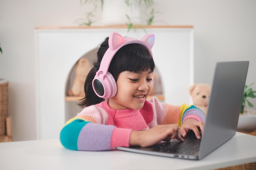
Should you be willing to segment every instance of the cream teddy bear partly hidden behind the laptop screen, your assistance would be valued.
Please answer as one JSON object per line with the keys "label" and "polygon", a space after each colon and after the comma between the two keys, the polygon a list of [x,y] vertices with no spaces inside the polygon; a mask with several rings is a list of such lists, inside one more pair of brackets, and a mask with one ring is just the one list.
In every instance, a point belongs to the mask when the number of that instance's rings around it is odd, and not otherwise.
{"label": "cream teddy bear partly hidden behind the laptop screen", "polygon": [[204,114],[207,114],[211,86],[209,84],[194,84],[189,88],[190,95],[193,100],[193,105],[200,108]]}

